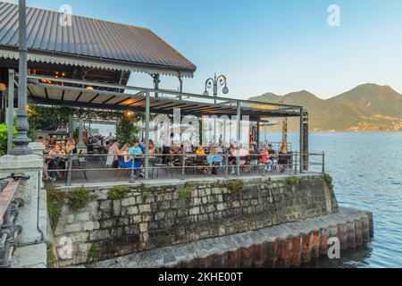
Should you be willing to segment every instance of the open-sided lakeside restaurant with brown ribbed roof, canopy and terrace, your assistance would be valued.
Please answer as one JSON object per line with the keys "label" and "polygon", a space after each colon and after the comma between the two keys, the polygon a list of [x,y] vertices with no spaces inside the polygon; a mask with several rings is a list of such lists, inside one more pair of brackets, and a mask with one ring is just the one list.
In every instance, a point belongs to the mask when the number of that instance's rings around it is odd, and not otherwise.
{"label": "open-sided lakeside restaurant with brown ribbed roof, canopy and terrace", "polygon": [[[308,154],[308,115],[302,106],[184,92],[184,78],[192,78],[197,67],[149,29],[73,15],[67,15],[71,17],[67,19],[69,24],[62,26],[60,19],[66,17],[63,13],[29,7],[26,14],[27,29],[24,31],[18,29],[18,15],[18,5],[0,2],[0,79],[8,87],[14,87],[8,88],[4,93],[9,101],[8,114],[13,114],[11,110],[18,96],[17,90],[27,95],[27,99],[18,97],[19,108],[23,105],[24,109],[29,104],[144,114],[144,154],[131,156],[130,160],[134,163],[123,164],[119,169],[122,172],[105,164],[108,155],[104,150],[88,152],[88,146],[82,141],[83,120],[71,116],[71,139],[72,121],[80,122],[77,152],[59,158],[63,161],[64,168],[48,170],[63,173],[63,178],[59,178],[59,181],[64,180],[67,185],[71,185],[71,181],[115,181],[127,173],[130,181],[134,181],[142,179],[138,176],[138,170],[142,171],[145,180],[155,177],[158,179],[159,176],[163,179],[174,176],[184,179],[205,174],[224,177],[239,177],[245,174],[265,176],[283,173],[281,164],[286,164],[284,169],[287,174],[304,172],[312,164],[322,166],[323,170],[323,155]],[[26,32],[26,37],[23,37],[26,38],[25,43],[19,42],[19,32]],[[27,46],[28,51],[25,62],[28,65],[26,75],[16,71],[19,69],[18,60],[21,59],[21,44]],[[154,87],[129,86],[130,75],[135,75],[136,72],[149,74]],[[177,91],[159,88],[161,76],[177,77]],[[224,84],[226,85],[226,80]],[[4,105],[5,100],[1,102]],[[180,110],[181,118],[197,117],[201,132],[205,131],[203,117],[218,118],[218,121],[219,118],[225,119],[224,124],[221,122],[222,130],[219,133],[214,129],[215,141],[204,146],[205,156],[195,156],[182,148],[180,154],[149,153],[149,143],[152,141],[150,135],[155,130],[152,119],[157,114],[172,117],[175,110]],[[261,136],[264,131],[266,137],[267,126],[274,124],[272,119],[278,121],[292,117],[298,118],[300,122],[299,147],[298,152],[289,147],[285,123],[282,142],[277,143],[276,147],[278,153],[281,145],[286,146],[286,156],[289,158],[284,160],[285,163],[281,163],[281,156],[278,154],[272,156],[272,166],[269,167],[261,164],[260,161],[264,162],[265,158],[258,153],[240,155],[241,143],[248,144],[251,136],[255,138],[257,149],[266,148],[266,145],[273,143],[266,139],[263,142]],[[7,118],[9,122],[13,121],[12,116]],[[236,126],[234,134],[230,136],[229,131],[225,129],[228,126],[227,121],[230,122],[229,125]],[[252,122],[249,124],[250,134],[247,135],[242,134],[245,121]],[[176,131],[181,133],[182,127],[174,130]],[[201,134],[196,147],[202,145],[203,135]],[[221,144],[217,144],[219,135],[223,137]],[[230,153],[230,144],[236,149],[237,155]],[[183,142],[180,142],[180,145],[183,145]],[[9,150],[10,146],[11,142]],[[218,151],[216,156],[221,157],[216,162],[211,161],[211,155],[208,154],[212,147]],[[309,162],[309,156],[322,157],[322,163]],[[140,166],[136,162],[139,162]],[[219,171],[215,172],[215,169]],[[124,172],[125,170],[129,172]]]}

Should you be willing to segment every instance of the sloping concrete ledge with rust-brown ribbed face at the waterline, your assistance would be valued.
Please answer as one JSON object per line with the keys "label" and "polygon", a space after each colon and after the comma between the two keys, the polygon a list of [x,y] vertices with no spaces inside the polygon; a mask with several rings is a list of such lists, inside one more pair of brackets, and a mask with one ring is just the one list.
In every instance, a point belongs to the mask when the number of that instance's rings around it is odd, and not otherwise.
{"label": "sloping concrete ledge with rust-brown ribbed face at the waterline", "polygon": [[284,223],[106,260],[94,268],[288,267],[325,255],[327,240],[355,248],[373,237],[373,214],[340,208],[338,214]]}

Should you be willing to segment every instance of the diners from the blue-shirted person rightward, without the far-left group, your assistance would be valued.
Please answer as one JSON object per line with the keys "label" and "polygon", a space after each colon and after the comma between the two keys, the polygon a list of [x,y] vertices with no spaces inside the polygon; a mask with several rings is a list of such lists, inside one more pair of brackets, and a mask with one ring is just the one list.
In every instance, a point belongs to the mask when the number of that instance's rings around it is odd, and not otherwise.
{"label": "diners from the blue-shirted person rightward, without the far-left group", "polygon": [[237,143],[232,143],[230,147],[214,146],[208,147],[192,146],[188,141],[181,145],[171,143],[163,145],[162,148],[156,148],[153,140],[149,140],[148,150],[146,150],[145,141],[134,141],[132,145],[126,144],[119,148],[117,139],[113,139],[109,147],[109,153],[106,159],[106,167],[133,169],[140,177],[144,177],[144,155],[149,156],[153,164],[160,162],[159,166],[165,168],[179,168],[184,163],[187,167],[197,167],[203,170],[205,174],[216,174],[222,166],[228,164],[230,173],[236,173],[236,166],[239,158],[239,165],[242,172],[251,172],[251,166],[259,166],[267,172],[278,168],[280,172],[286,172],[289,168],[291,153],[287,151],[286,146],[282,146],[277,153],[272,145],[258,147],[253,143],[245,147]]}

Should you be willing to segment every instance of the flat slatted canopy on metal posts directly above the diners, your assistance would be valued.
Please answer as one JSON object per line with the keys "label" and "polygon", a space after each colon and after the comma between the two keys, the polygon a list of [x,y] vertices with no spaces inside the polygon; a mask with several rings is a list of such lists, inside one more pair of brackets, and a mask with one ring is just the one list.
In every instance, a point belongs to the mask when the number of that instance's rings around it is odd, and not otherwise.
{"label": "flat slatted canopy on metal posts directly above the diners", "polygon": [[[251,121],[259,121],[265,117],[293,117],[300,116],[300,106],[260,103],[247,100],[236,100],[222,97],[205,97],[188,93],[180,94],[177,91],[162,89],[147,89],[134,87],[120,87],[96,82],[80,80],[52,79],[55,82],[70,81],[81,88],[54,84],[38,83],[39,76],[29,76],[28,99],[30,103],[42,105],[63,105],[81,108],[96,108],[110,110],[131,110],[145,112],[146,93],[150,92],[150,111],[152,114],[173,114],[173,108],[180,108],[182,115],[228,115],[237,114],[237,103],[240,103],[242,116],[249,116]],[[46,77],[46,79],[50,79]],[[35,82],[33,82],[35,81]],[[85,86],[97,89],[82,88]],[[126,88],[125,93],[103,90],[101,88]],[[130,93],[127,93],[129,92]],[[134,92],[134,94],[131,94]],[[159,97],[156,97],[156,94]],[[178,97],[185,99],[179,100]],[[217,103],[214,103],[214,100]]]}

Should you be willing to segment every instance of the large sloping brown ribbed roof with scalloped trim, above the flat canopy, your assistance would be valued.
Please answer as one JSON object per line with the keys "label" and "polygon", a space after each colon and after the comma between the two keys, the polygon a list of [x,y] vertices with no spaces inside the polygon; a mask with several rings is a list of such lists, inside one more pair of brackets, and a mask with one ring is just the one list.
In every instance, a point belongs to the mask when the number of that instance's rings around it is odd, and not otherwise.
{"label": "large sloping brown ribbed roof with scalloped trim, above the flat canopy", "polygon": [[[184,76],[197,70],[150,29],[80,16],[72,16],[71,27],[63,27],[60,15],[27,8],[29,60],[124,71],[148,67]],[[18,5],[0,1],[0,56],[17,59],[17,48]]]}

